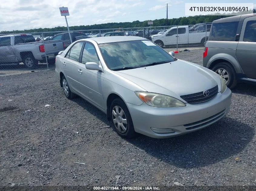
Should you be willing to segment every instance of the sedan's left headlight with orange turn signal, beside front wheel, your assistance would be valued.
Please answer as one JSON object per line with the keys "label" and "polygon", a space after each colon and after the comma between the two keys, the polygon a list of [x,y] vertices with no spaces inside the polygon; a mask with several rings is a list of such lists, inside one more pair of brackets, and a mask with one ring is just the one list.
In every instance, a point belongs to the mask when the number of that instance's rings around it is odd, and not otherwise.
{"label": "sedan's left headlight with orange turn signal, beside front wheel", "polygon": [[156,94],[145,91],[135,91],[137,96],[144,103],[152,106],[152,107],[182,107],[186,106],[182,101],[163,94]]}

